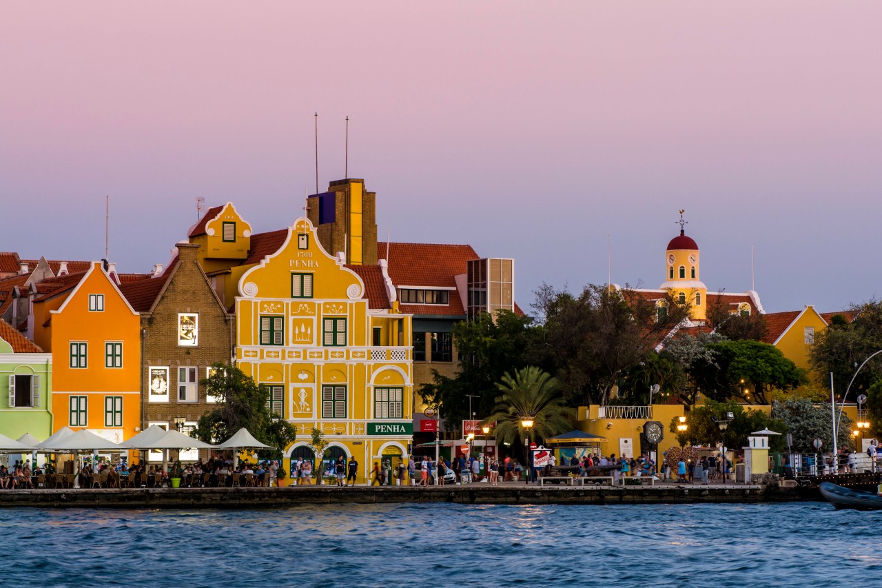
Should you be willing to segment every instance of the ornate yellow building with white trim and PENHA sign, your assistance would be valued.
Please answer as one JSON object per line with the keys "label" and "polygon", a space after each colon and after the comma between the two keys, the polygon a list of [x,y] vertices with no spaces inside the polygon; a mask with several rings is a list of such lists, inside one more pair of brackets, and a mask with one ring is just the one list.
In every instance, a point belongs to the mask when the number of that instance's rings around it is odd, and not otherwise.
{"label": "ornate yellow building with white trim and PENHA sign", "polygon": [[325,456],[355,456],[360,483],[374,463],[406,460],[411,315],[397,312],[385,264],[346,265],[299,218],[276,250],[243,272],[237,290],[236,362],[270,388],[273,410],[297,427],[286,456],[320,458],[310,444],[315,427],[330,441]]}

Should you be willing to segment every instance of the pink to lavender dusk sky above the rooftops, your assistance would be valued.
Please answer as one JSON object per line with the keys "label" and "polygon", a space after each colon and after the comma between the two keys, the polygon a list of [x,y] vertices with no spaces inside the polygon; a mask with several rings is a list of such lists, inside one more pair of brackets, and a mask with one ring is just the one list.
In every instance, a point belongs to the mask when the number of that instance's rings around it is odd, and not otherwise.
{"label": "pink to lavender dusk sky above the rooftops", "polygon": [[[378,233],[543,282],[657,288],[684,208],[710,290],[882,296],[877,2],[0,4],[0,250],[166,263],[207,207],[318,183]],[[609,244],[609,249],[608,249]],[[611,252],[611,254],[608,254]],[[608,261],[611,260],[611,263]]]}

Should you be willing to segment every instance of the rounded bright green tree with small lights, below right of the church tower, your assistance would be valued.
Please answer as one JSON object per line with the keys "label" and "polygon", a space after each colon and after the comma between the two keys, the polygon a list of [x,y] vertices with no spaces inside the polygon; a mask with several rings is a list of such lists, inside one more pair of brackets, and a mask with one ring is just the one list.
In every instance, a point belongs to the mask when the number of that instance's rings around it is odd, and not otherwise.
{"label": "rounded bright green tree with small lights, below right of the church tower", "polygon": [[691,375],[701,393],[716,401],[735,397],[767,404],[773,389],[786,391],[809,383],[808,373],[774,345],[741,340],[711,343],[708,348],[715,353],[714,364],[698,362]]}

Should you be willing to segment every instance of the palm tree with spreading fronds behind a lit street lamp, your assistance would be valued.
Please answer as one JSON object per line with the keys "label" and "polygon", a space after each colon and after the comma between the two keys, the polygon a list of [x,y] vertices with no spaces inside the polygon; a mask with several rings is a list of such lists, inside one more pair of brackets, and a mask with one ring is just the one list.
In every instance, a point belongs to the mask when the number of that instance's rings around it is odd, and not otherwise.
{"label": "palm tree with spreading fronds behind a lit street lamp", "polygon": [[[514,373],[505,373],[497,388],[496,405],[484,424],[496,422],[497,443],[518,445],[527,434],[537,441],[544,441],[571,426],[574,411],[566,406],[558,392],[559,382],[535,366],[527,366]],[[525,433],[521,418],[532,418],[533,426]]]}

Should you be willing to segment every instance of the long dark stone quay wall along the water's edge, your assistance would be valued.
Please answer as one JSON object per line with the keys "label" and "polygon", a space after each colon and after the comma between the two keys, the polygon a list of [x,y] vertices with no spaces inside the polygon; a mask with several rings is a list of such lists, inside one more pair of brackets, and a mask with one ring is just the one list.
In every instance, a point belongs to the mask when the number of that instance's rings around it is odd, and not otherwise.
{"label": "long dark stone quay wall along the water's edge", "polygon": [[0,508],[261,509],[303,504],[666,504],[817,500],[770,486],[299,486],[281,488],[122,488],[0,490]]}

